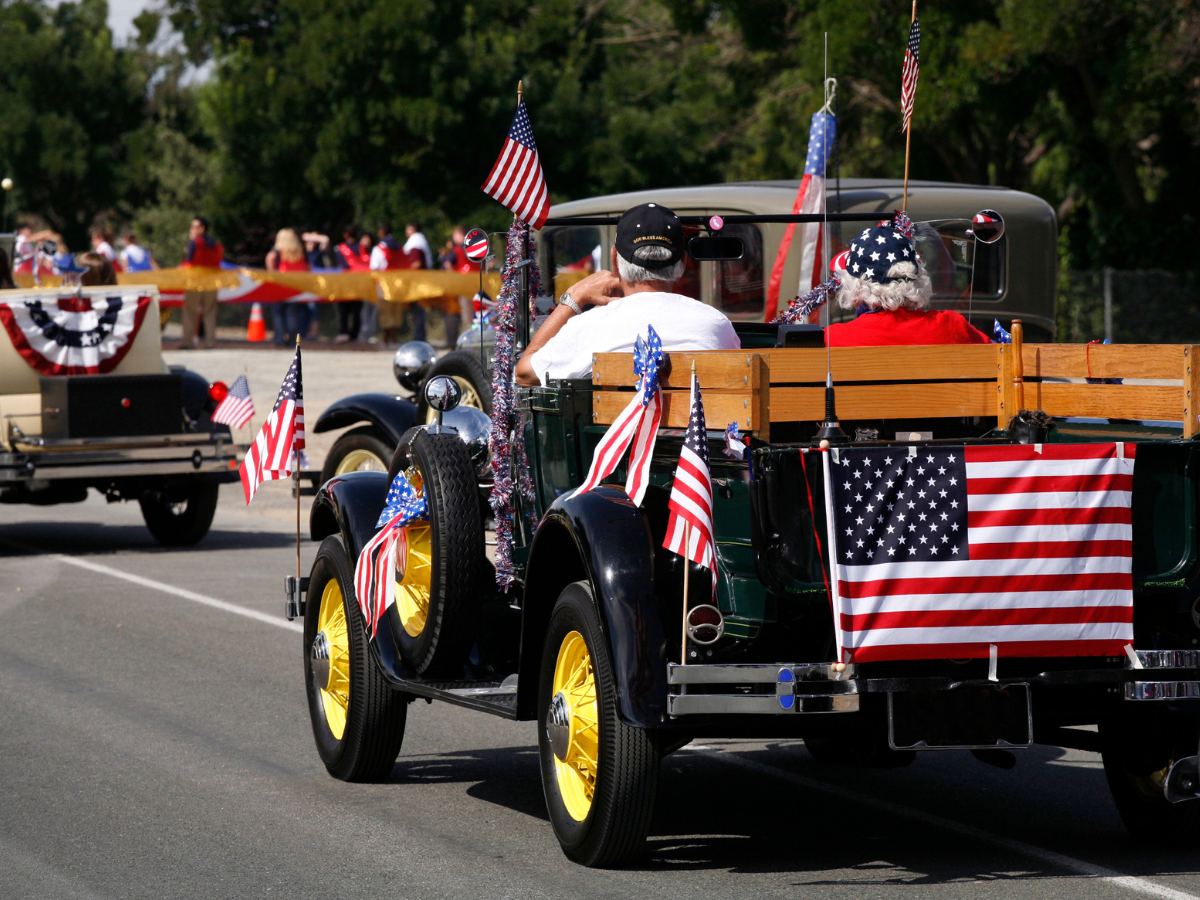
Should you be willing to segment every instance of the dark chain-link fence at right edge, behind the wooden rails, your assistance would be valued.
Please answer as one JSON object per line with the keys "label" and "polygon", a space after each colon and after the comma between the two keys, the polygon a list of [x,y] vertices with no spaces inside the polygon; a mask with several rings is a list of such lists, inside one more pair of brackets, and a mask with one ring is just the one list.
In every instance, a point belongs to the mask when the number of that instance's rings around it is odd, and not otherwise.
{"label": "dark chain-link fence at right edge, behind the wooden rails", "polygon": [[1058,272],[1058,341],[1200,343],[1200,272]]}

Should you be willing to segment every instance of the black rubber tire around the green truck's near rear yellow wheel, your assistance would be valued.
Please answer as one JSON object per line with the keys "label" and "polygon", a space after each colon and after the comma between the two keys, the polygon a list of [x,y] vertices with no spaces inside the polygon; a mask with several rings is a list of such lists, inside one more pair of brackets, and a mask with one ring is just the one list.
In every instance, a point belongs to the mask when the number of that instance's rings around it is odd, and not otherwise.
{"label": "black rubber tire around the green truck's near rear yellow wheel", "polygon": [[[547,730],[559,650],[572,632],[583,636],[592,659],[599,730],[590,805],[582,821],[564,800]],[[617,714],[612,661],[587,582],[568,584],[550,618],[538,682],[538,754],[550,822],[563,852],[576,863],[596,868],[635,859],[646,846],[654,814],[659,750],[653,732],[625,725]]]}

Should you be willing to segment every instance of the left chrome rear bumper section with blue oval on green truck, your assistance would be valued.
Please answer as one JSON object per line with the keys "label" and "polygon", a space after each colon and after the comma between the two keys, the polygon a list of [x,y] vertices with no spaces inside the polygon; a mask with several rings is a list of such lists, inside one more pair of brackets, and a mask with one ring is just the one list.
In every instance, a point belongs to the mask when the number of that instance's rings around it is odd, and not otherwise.
{"label": "left chrome rear bumper section with blue oval on green truck", "polygon": [[[852,665],[688,665],[667,664],[667,712],[683,715],[790,715],[857,713],[858,684]],[[724,686],[724,692],[696,689]],[[691,688],[692,690],[689,690]]]}

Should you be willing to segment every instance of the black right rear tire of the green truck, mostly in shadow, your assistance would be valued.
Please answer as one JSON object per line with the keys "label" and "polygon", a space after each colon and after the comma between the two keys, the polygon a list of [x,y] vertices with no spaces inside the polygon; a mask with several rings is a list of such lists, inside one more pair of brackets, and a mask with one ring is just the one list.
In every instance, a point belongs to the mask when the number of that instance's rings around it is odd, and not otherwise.
{"label": "black right rear tire of the green truck, mostly in shadow", "polygon": [[1169,803],[1162,785],[1175,761],[1195,756],[1198,743],[1200,716],[1152,702],[1127,704],[1100,722],[1104,775],[1121,821],[1139,841],[1200,845],[1200,802]]}

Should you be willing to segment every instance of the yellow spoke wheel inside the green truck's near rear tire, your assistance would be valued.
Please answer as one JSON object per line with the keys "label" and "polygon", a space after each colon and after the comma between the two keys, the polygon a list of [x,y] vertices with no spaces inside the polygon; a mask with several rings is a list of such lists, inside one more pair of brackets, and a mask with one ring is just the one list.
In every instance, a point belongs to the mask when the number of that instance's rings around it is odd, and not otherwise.
{"label": "yellow spoke wheel inside the green truck's near rear tire", "polygon": [[[558,648],[551,686],[560,737],[554,742],[554,774],[563,805],[576,822],[592,810],[600,758],[600,716],[592,654],[578,631]],[[565,719],[565,732],[564,728]]]}

